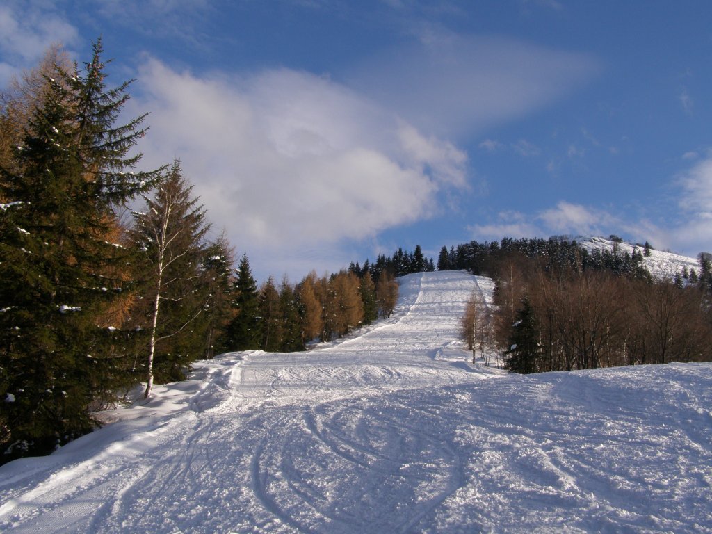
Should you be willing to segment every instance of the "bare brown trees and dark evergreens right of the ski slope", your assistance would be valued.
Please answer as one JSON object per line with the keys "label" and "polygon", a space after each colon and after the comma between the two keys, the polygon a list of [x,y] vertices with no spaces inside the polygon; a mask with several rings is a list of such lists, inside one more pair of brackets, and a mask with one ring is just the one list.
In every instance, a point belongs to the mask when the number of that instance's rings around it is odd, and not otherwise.
{"label": "bare brown trees and dark evergreens right of the ski slope", "polygon": [[473,297],[463,318],[473,357],[501,355],[524,373],[712,361],[710,256],[656,280],[643,248],[589,253],[562,238],[466,247],[496,281],[493,309]]}

